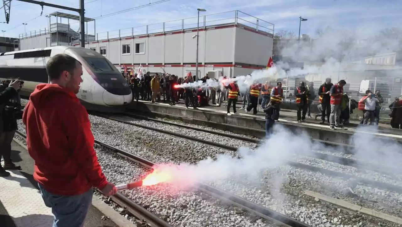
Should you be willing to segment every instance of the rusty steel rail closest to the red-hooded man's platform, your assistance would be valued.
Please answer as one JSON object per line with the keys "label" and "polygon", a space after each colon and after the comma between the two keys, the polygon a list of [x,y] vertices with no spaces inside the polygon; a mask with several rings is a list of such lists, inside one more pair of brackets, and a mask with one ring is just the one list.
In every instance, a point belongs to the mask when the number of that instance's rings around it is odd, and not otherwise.
{"label": "rusty steel rail closest to the red-hooded man's platform", "polygon": [[[16,130],[16,133],[23,137],[25,140],[27,139],[27,135],[22,133],[19,130]],[[105,145],[105,143],[102,143],[100,141],[95,141],[98,145]],[[110,147],[108,147],[110,148]],[[97,190],[100,192],[100,190]],[[100,192],[102,193],[102,192]],[[113,202],[117,203],[119,206],[127,209],[134,217],[137,217],[138,219],[144,219],[150,226],[152,227],[173,227],[154,213],[148,211],[141,205],[135,203],[133,200],[127,198],[123,193],[117,192],[117,194],[111,196],[111,199]]]}

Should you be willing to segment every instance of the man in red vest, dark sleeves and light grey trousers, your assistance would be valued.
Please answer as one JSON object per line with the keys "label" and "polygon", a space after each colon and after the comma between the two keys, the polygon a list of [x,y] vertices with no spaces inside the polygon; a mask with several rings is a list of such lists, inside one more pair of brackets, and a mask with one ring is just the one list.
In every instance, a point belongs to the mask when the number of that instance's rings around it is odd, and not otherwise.
{"label": "man in red vest, dark sleeves and light grey trousers", "polygon": [[345,86],[346,81],[340,80],[338,84],[334,84],[329,92],[331,97],[330,104],[331,104],[331,114],[330,118],[330,129],[335,130],[336,128],[342,129],[343,127],[340,125],[340,102],[342,101],[343,96],[343,86]]}

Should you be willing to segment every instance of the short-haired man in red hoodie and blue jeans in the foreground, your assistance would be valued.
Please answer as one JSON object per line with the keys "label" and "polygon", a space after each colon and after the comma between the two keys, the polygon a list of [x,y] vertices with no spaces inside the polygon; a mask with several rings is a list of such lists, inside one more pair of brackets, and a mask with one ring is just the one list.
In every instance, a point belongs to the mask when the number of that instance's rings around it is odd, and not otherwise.
{"label": "short-haired man in red hoodie and blue jeans in the foreground", "polygon": [[29,155],[35,160],[33,177],[45,205],[52,208],[53,227],[82,227],[92,187],[106,196],[117,190],[100,168],[88,112],[76,96],[81,63],[58,54],[47,62],[46,71],[50,84],[36,86],[23,115]]}

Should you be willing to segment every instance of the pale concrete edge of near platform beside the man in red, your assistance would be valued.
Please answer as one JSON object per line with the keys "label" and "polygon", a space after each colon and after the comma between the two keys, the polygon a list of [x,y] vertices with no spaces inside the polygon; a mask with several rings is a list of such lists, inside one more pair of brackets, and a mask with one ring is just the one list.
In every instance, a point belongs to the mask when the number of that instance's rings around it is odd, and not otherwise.
{"label": "pale concrete edge of near platform beside the man in red", "polygon": [[[24,149],[28,150],[28,147],[25,146],[23,143],[21,143],[21,141],[19,141],[16,138],[12,138],[12,139],[18,145],[20,145]],[[107,205],[105,202],[103,202],[96,196],[92,197],[92,206],[94,206],[96,209],[98,209],[101,213],[103,213],[111,221],[113,221],[116,225],[118,225],[120,227],[137,227],[137,225],[134,225],[131,221],[127,220],[125,217],[123,217],[121,214],[119,214],[113,208],[109,207],[109,205]]]}

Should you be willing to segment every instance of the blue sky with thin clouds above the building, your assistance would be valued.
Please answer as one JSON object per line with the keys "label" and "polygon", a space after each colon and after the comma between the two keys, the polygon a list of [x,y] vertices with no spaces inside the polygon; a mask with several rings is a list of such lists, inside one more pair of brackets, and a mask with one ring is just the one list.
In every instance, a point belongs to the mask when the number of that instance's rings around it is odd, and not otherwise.
{"label": "blue sky with thin clouds above the building", "polygon": [[[78,0],[44,0],[53,4],[63,4],[78,8]],[[110,35],[117,35],[118,29],[121,33],[131,33],[131,27],[136,27],[137,33],[142,33],[145,27],[142,25],[154,24],[164,21],[178,20],[197,16],[197,8],[205,8],[204,14],[213,14],[231,10],[240,10],[262,20],[275,24],[275,31],[280,29],[290,30],[297,35],[299,29],[299,16],[307,18],[302,22],[301,33],[315,36],[316,29],[327,25],[332,27],[367,28],[373,31],[385,27],[397,27],[402,22],[402,0],[166,0],[160,4],[154,4],[128,12],[119,13],[113,16],[107,14],[144,6],[160,0],[86,0],[86,17],[96,19],[96,33],[99,37],[106,37],[106,31],[113,31]],[[247,2],[247,3],[246,3]],[[18,37],[19,34],[30,31],[39,31],[48,26],[49,19],[45,15],[59,11],[75,14],[67,10],[59,10],[45,6],[43,16],[41,6],[12,0],[9,24],[0,23],[0,31],[5,31],[6,37]],[[105,16],[106,15],[106,16]],[[207,16],[209,23],[231,22],[234,12]],[[239,14],[239,22],[246,25],[255,23],[255,18],[246,14]],[[219,20],[220,19],[220,20]],[[226,20],[223,20],[226,19]],[[51,18],[52,23],[55,18]],[[216,20],[211,22],[212,20]],[[246,21],[250,22],[246,22]],[[0,22],[5,21],[4,9],[0,10]],[[203,19],[201,19],[201,22]],[[66,22],[63,19],[62,22]],[[70,21],[74,23],[75,21]],[[185,21],[185,24],[194,24],[197,18]],[[23,23],[27,23],[26,26]],[[180,25],[180,21],[170,22],[166,27]],[[260,21],[260,25],[262,21]],[[269,24],[263,23],[265,27]],[[78,29],[76,22],[71,25]],[[93,22],[88,23],[89,33],[94,33]],[[190,25],[189,25],[190,26]],[[162,25],[150,26],[150,29],[161,28]],[[190,26],[194,27],[194,26]],[[196,26],[195,26],[196,27]],[[154,30],[157,31],[157,30]],[[0,33],[3,36],[3,33]]]}

